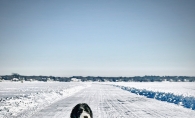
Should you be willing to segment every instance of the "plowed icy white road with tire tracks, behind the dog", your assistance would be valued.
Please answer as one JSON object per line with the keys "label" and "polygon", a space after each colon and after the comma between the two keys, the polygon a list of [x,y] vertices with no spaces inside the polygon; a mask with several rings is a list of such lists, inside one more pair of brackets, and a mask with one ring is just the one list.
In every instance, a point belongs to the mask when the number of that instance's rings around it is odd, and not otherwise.
{"label": "plowed icy white road with tire tracks, behind the dog", "polygon": [[87,103],[94,118],[192,118],[195,111],[139,96],[117,87],[92,84],[76,94],[35,112],[31,118],[69,118],[77,103]]}

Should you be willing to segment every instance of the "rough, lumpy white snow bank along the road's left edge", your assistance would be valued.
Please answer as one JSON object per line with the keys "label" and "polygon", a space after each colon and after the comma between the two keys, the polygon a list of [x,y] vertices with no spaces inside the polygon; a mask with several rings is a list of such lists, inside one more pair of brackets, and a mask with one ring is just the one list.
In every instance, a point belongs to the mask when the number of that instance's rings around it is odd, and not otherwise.
{"label": "rough, lumpy white snow bank along the road's left edge", "polygon": [[74,86],[63,89],[50,89],[36,93],[0,98],[0,117],[25,117],[29,112],[38,111],[58,100],[69,97],[76,92],[89,87]]}

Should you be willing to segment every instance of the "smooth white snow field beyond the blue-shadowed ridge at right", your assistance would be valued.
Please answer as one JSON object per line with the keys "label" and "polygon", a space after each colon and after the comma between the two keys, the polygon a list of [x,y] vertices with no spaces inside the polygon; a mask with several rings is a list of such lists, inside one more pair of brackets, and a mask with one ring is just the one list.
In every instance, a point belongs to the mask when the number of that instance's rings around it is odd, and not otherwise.
{"label": "smooth white snow field beyond the blue-shadowed ridge at right", "polygon": [[195,82],[113,82],[108,84],[195,97]]}

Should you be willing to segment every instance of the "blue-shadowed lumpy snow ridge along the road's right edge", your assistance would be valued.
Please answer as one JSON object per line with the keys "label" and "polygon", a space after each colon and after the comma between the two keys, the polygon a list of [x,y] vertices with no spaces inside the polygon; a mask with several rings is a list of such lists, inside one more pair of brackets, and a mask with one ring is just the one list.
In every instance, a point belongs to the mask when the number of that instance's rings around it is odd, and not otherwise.
{"label": "blue-shadowed lumpy snow ridge along the road's right edge", "polygon": [[155,91],[146,90],[146,89],[136,89],[134,87],[125,87],[125,86],[119,86],[119,85],[113,85],[113,86],[119,87],[123,90],[127,90],[137,95],[146,96],[147,98],[153,98],[153,99],[157,99],[160,101],[166,101],[169,103],[181,105],[185,108],[195,110],[195,97],[193,96],[174,95],[173,93],[155,92]]}

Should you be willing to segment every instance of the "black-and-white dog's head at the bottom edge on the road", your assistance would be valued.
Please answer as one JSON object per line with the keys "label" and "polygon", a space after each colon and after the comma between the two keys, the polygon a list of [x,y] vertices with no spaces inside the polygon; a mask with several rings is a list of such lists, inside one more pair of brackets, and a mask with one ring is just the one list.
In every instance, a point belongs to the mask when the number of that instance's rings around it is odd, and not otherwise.
{"label": "black-and-white dog's head at the bottom edge on the road", "polygon": [[72,109],[70,118],[93,118],[93,113],[86,103],[80,103]]}

